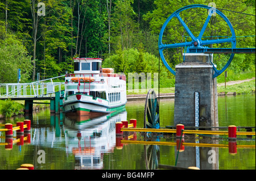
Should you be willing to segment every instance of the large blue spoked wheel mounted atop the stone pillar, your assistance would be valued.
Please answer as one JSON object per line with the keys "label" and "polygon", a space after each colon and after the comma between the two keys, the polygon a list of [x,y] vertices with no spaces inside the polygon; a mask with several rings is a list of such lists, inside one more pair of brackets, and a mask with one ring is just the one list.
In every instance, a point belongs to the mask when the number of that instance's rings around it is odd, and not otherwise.
{"label": "large blue spoked wheel mounted atop the stone pillar", "polygon": [[[189,30],[189,27],[187,27],[187,25],[184,23],[183,19],[180,17],[180,12],[181,11],[184,11],[184,10],[187,10],[187,9],[193,9],[193,8],[204,8],[204,9],[208,9],[209,10],[208,11],[208,17],[205,20],[203,28],[201,29],[201,31],[199,33],[199,36],[197,36],[197,37],[195,37],[193,35],[193,32],[191,32]],[[220,15],[225,20],[225,22],[228,24],[230,32],[232,33],[232,36],[229,37],[229,38],[226,38],[226,39],[202,40],[203,34],[205,32],[205,29],[207,28],[207,24],[209,23],[209,20],[212,17],[212,14],[213,14],[214,11],[216,12],[216,14]],[[174,44],[163,44],[162,43],[162,37],[163,37],[164,30],[165,30],[168,22],[170,22],[170,20],[172,18],[174,18],[174,17],[176,17],[179,20],[181,25],[184,27],[185,31],[187,31],[189,37],[191,37],[192,41],[185,42],[185,43],[174,43]],[[166,59],[164,58],[164,55],[163,55],[163,50],[164,49],[180,48],[180,47],[184,47],[185,48],[185,47],[187,47],[188,51],[190,49],[194,49],[194,50],[196,49],[197,52],[203,53],[204,49],[208,48],[208,47],[205,47],[204,45],[220,44],[220,43],[232,43],[232,48],[236,48],[236,35],[235,35],[235,32],[234,32],[234,28],[233,28],[232,24],[229,22],[228,18],[226,18],[226,16],[224,14],[222,14],[221,11],[219,11],[217,9],[214,9],[213,7],[210,7],[210,6],[206,6],[206,5],[189,5],[189,6],[182,7],[181,9],[175,11],[171,16],[169,16],[167,18],[166,22],[164,22],[163,27],[162,27],[162,29],[160,31],[160,34],[159,34],[158,49],[159,49],[159,54],[160,54],[160,57],[161,57],[164,65],[166,66],[166,68],[169,71],[171,71],[172,74],[175,75],[176,74],[175,71],[168,65]],[[189,53],[188,51],[187,51],[187,53]],[[228,66],[232,62],[233,57],[234,57],[234,53],[231,53],[228,62],[226,63],[226,65],[221,70],[217,70],[215,68],[215,66],[213,65],[213,70],[214,70],[213,78],[217,77],[218,75],[223,73],[228,68]]]}

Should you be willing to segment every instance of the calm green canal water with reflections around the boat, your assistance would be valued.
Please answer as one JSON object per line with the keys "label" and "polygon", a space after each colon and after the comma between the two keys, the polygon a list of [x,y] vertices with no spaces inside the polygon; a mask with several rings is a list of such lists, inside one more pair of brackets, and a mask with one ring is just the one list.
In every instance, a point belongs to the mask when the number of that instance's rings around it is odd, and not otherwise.
{"label": "calm green canal water with reflections around the boat", "polygon": [[[196,166],[201,170],[255,169],[255,146],[250,148],[255,145],[255,136],[238,136],[237,142],[230,144],[226,137],[185,135],[184,142],[224,146],[179,146],[180,149],[172,134],[115,136],[117,121],[137,119],[137,128],[143,128],[143,112],[144,101],[136,101],[128,102],[125,110],[115,115],[96,119],[77,120],[62,114],[51,115],[45,110],[15,120],[4,120],[1,124],[30,119],[31,132],[24,135],[23,145],[15,143],[18,136],[14,132],[12,146],[5,144],[8,140],[0,132],[0,170],[15,170],[23,163],[33,164],[36,170],[144,170],[170,168],[168,166]],[[255,94],[219,96],[218,119],[220,127],[255,127]],[[173,124],[174,99],[161,99],[160,127]],[[172,144],[123,143],[122,139]]]}

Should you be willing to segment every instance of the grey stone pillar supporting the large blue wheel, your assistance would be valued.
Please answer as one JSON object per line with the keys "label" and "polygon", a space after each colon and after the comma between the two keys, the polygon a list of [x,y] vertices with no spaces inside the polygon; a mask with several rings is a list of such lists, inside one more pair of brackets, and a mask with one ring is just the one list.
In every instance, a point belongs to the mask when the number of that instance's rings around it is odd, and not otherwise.
{"label": "grey stone pillar supporting the large blue wheel", "polygon": [[217,82],[210,54],[186,53],[176,65],[174,126],[195,127],[195,92],[199,92],[199,126],[218,127]]}

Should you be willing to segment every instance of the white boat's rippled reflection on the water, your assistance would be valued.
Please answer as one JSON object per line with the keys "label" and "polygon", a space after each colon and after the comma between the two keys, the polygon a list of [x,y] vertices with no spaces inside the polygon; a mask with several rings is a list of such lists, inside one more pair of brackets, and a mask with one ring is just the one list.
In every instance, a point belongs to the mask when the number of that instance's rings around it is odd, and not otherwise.
{"label": "white boat's rippled reflection on the water", "polygon": [[92,119],[65,116],[66,151],[75,155],[75,169],[103,169],[104,153],[115,147],[115,123],[126,119],[125,108]]}

